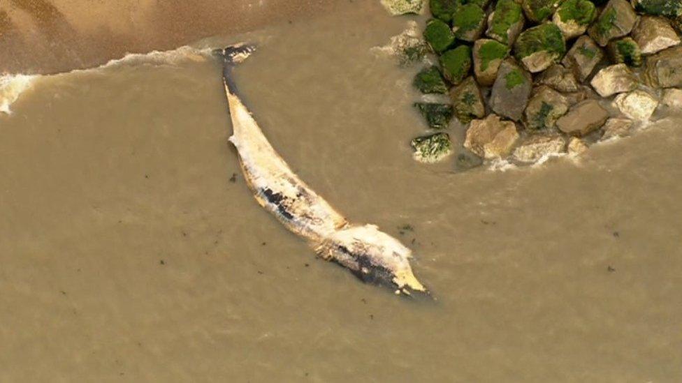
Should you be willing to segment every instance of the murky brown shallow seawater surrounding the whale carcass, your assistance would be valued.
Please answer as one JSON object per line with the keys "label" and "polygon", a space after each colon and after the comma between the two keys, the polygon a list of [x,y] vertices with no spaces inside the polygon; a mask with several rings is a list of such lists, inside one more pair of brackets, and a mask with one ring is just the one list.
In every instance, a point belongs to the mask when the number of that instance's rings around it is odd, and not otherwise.
{"label": "murky brown shallow seawater surrounding the whale carcass", "polygon": [[679,381],[681,121],[537,167],[421,165],[419,67],[370,52],[408,19],[377,3],[198,45],[259,43],[235,80],[273,147],[412,248],[435,299],[363,285],[256,204],[210,57],[41,77],[0,114],[0,381]]}

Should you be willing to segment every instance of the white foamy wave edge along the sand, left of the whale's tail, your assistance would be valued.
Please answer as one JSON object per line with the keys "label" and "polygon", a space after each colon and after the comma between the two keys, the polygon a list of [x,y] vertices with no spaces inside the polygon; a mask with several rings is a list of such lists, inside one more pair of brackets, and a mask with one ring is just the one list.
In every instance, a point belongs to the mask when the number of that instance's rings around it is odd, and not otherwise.
{"label": "white foamy wave edge along the sand, left of the whale's tail", "polygon": [[188,61],[201,62],[210,57],[212,48],[195,48],[187,45],[179,47],[175,50],[157,51],[154,50],[149,53],[129,53],[120,59],[113,59],[104,63],[101,66],[87,69],[75,69],[66,73],[57,73],[55,75],[24,75],[17,74],[2,74],[0,75],[0,113],[11,114],[10,107],[16,100],[20,98],[22,93],[31,89],[38,80],[43,77],[68,75],[71,73],[84,73],[95,70],[105,70],[108,68],[115,68],[117,66],[134,66],[134,65],[178,65]]}

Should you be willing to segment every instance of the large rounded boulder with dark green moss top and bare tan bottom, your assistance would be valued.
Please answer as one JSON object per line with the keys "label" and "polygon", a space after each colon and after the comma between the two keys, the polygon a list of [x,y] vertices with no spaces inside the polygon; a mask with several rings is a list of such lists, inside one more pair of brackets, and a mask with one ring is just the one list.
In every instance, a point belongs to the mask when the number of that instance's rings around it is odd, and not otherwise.
{"label": "large rounded boulder with dark green moss top and bare tan bottom", "polygon": [[514,56],[532,73],[549,68],[565,53],[566,43],[563,34],[552,23],[526,29],[514,43]]}

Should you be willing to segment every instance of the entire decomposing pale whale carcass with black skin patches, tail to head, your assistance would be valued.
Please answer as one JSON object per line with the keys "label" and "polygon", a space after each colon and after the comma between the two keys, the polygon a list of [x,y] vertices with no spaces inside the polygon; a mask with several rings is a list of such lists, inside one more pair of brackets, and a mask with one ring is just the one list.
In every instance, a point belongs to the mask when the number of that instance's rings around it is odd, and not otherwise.
{"label": "entire decomposing pale whale carcass with black skin patches, tail to head", "polygon": [[251,112],[237,96],[231,69],[254,48],[235,45],[217,51],[232,120],[229,138],[256,200],[287,229],[305,237],[324,260],[336,262],[368,283],[389,285],[398,293],[427,292],[409,264],[412,252],[375,225],[348,221],[291,171],[273,149]]}

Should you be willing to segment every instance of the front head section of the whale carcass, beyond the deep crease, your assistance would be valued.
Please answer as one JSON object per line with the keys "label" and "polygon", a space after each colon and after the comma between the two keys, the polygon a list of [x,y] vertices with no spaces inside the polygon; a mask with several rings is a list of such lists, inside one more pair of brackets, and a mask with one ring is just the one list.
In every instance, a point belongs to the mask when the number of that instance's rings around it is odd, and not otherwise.
{"label": "front head section of the whale carcass, beyond the deep crease", "polygon": [[388,285],[398,294],[428,293],[412,273],[412,251],[375,225],[337,230],[317,248],[317,253],[347,267],[365,283]]}

